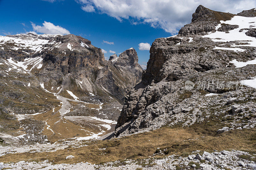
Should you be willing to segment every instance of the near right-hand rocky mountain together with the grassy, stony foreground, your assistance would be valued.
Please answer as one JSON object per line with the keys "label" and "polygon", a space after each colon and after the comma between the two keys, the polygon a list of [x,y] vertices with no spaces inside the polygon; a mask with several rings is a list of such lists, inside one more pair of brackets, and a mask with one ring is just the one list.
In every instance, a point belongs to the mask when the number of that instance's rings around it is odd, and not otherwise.
{"label": "near right-hand rocky mountain together with the grassy, stony foreground", "polygon": [[231,14],[198,6],[178,35],[152,43],[147,69],[140,82],[135,79],[115,131],[102,140],[3,145],[1,166],[256,169],[255,28],[256,9]]}

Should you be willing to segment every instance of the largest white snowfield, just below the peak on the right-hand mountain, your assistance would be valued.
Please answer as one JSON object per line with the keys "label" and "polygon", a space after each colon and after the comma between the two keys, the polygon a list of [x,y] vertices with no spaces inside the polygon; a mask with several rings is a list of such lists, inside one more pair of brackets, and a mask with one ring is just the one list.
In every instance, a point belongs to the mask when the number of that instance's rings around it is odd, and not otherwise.
{"label": "largest white snowfield, just below the peak on the right-hand mountain", "polygon": [[[220,21],[221,24],[229,24],[229,25],[238,25],[239,27],[228,31],[229,33],[216,31],[214,33],[209,32],[208,35],[204,35],[203,38],[210,38],[214,42],[227,42],[227,41],[238,41],[238,42],[247,42],[248,44],[244,45],[231,45],[231,47],[236,46],[252,46],[256,47],[256,39],[254,37],[247,36],[245,32],[248,30],[240,29],[250,29],[255,28],[256,26],[256,17],[241,17],[234,16],[231,20],[228,21]],[[221,27],[221,24],[216,26],[216,30]],[[232,48],[231,48],[232,50]]]}

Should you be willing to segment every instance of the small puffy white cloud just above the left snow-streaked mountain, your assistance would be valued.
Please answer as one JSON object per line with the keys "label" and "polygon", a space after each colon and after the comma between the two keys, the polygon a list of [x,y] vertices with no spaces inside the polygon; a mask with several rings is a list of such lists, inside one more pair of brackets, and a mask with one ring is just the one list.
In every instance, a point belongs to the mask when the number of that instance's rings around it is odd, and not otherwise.
{"label": "small puffy white cloud just above the left snow-streaked mountain", "polygon": [[61,26],[58,26],[58,25],[56,26],[46,21],[44,21],[43,26],[36,25],[32,22],[31,22],[31,25],[32,25],[33,31],[40,32],[43,34],[61,34],[61,35],[70,34],[70,32],[65,28],[62,28]]}

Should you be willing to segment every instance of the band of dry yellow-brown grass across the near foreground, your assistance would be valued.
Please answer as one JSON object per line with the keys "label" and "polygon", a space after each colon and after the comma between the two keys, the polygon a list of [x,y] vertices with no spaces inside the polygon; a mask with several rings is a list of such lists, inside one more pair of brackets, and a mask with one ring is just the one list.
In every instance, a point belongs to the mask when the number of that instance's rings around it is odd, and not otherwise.
{"label": "band of dry yellow-brown grass across the near foreground", "polygon": [[[255,129],[233,130],[222,135],[205,136],[189,128],[162,127],[158,130],[136,134],[120,139],[91,142],[90,145],[81,148],[67,148],[56,152],[42,153],[16,153],[0,157],[1,162],[43,161],[49,159],[55,163],[77,163],[88,161],[90,163],[102,163],[118,159],[144,159],[156,152],[156,149],[167,149],[164,157],[171,154],[186,156],[195,150],[249,150],[255,152],[255,140],[252,135]],[[197,140],[188,140],[196,139]],[[252,140],[253,139],[253,140]],[[99,148],[107,148],[99,150]],[[74,159],[66,160],[66,156],[73,155]]]}

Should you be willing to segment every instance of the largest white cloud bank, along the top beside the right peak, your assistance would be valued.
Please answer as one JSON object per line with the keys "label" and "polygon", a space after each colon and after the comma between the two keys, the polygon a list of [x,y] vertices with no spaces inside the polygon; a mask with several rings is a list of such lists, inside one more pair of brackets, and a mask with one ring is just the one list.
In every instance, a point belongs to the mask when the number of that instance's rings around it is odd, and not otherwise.
{"label": "largest white cloud bank, along the top beside the right peak", "polygon": [[200,4],[215,10],[238,13],[256,7],[255,0],[76,0],[82,6],[96,9],[122,21],[131,19],[134,25],[149,24],[166,32],[177,33],[180,27],[191,22],[192,13]]}

